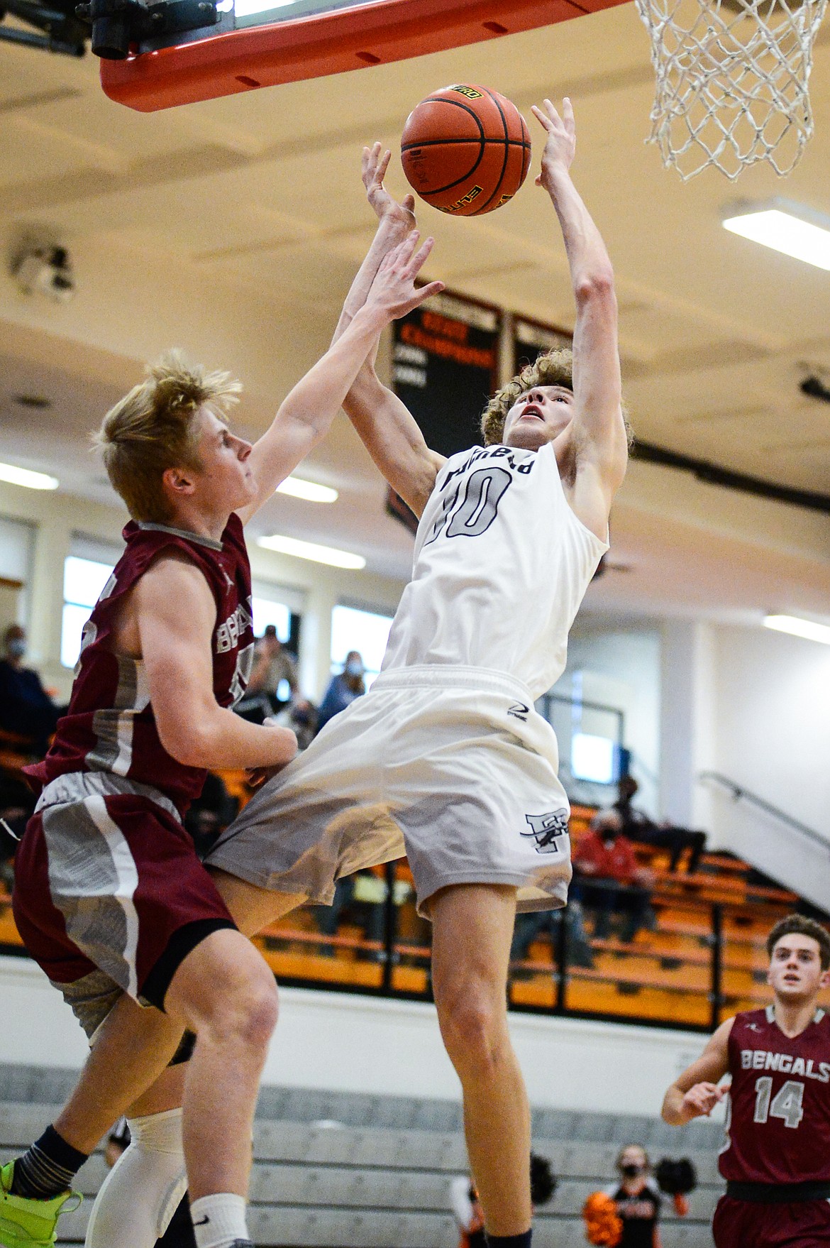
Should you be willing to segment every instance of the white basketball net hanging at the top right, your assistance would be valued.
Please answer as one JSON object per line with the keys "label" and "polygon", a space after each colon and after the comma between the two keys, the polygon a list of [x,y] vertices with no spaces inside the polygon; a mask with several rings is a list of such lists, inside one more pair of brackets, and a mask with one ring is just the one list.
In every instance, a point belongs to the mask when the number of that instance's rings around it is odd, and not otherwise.
{"label": "white basketball net hanging at the top right", "polygon": [[769,161],[783,177],[813,134],[808,81],[828,0],[636,0],[652,40],[652,132],[683,181],[734,180]]}

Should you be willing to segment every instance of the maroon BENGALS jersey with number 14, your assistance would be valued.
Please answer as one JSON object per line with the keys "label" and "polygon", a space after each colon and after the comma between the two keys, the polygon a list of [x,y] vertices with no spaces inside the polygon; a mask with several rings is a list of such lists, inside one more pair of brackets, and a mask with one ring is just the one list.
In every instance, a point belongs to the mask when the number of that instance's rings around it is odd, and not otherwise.
{"label": "maroon BENGALS jersey with number 14", "polygon": [[719,1168],[739,1183],[830,1181],[830,1017],[791,1040],[771,1006],[735,1016]]}

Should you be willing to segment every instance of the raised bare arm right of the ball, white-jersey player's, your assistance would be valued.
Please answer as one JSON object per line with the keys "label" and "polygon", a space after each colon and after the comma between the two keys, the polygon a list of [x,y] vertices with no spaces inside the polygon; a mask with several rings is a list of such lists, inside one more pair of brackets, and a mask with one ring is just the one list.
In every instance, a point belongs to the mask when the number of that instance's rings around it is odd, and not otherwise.
{"label": "raised bare arm right of the ball, white-jersey player's", "polygon": [[576,151],[571,101],[563,101],[560,116],[551,101],[545,100],[542,107],[533,105],[533,116],[547,136],[536,183],[548,192],[560,218],[577,310],[571,426],[575,467],[577,474],[591,469],[609,508],[628,459],[614,275],[606,245],[571,178]]}

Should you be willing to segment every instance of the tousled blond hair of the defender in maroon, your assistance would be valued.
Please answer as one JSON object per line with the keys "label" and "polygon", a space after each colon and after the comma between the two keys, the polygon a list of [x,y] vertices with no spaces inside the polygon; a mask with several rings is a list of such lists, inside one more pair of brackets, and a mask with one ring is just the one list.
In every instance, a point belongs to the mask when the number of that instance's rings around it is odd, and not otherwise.
{"label": "tousled blond hair of the defender in maroon", "polygon": [[173,518],[163,473],[202,467],[199,408],[209,403],[224,419],[241,391],[231,373],[207,372],[202,364],[187,364],[179,351],[169,351],[107,412],[92,442],[133,519],[165,524]]}

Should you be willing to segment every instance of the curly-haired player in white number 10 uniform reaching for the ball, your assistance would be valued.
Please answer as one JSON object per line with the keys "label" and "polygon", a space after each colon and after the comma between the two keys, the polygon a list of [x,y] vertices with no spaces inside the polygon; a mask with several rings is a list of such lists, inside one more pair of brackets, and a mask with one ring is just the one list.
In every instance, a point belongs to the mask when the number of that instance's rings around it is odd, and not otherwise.
{"label": "curly-haired player in white number 10 uniform reaching for the ball", "polygon": [[[515,914],[565,905],[571,877],[556,738],[533,701],[565,668],[627,462],[613,272],[570,177],[573,112],[566,101],[560,117],[548,100],[533,112],[547,132],[537,183],[553,201],[571,266],[573,357],[526,369],[489,404],[486,447],[444,461],[380,384],[370,353],[346,411],[420,515],[413,580],[369,693],[259,790],[208,859],[250,935],[304,900],[329,902],[339,876],[405,849],[419,909],[434,925],[439,1022],[462,1083],[494,1248],[531,1242],[530,1113],[506,1018]],[[398,205],[383,188],[385,163],[379,146],[365,151],[380,225],[339,332],[411,228],[411,201]],[[143,1248],[130,1238],[125,1202],[160,1199],[161,1184],[142,1173],[143,1187],[136,1181],[117,1196],[111,1184],[126,1238],[100,1248]],[[117,1222],[118,1209],[108,1216]]]}

